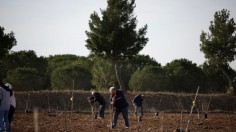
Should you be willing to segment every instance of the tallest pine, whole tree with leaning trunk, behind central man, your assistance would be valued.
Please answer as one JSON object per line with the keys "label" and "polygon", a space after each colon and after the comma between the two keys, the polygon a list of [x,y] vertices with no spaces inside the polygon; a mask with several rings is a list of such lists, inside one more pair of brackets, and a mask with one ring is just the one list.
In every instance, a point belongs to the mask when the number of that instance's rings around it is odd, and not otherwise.
{"label": "tallest pine, whole tree with leaning trunk, behind central man", "polygon": [[135,0],[108,0],[107,4],[107,8],[101,10],[102,18],[96,12],[90,16],[86,47],[92,54],[112,61],[120,89],[125,90],[119,63],[144,48],[148,41],[147,25],[136,30]]}

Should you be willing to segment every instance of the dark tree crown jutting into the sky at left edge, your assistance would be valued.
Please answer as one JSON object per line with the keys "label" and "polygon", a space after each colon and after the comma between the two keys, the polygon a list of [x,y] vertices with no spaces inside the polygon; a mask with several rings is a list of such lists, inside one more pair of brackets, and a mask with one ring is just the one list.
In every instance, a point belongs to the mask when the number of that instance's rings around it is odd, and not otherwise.
{"label": "dark tree crown jutting into the sky at left edge", "polygon": [[4,57],[9,50],[16,45],[14,33],[4,33],[4,27],[0,26],[0,59]]}

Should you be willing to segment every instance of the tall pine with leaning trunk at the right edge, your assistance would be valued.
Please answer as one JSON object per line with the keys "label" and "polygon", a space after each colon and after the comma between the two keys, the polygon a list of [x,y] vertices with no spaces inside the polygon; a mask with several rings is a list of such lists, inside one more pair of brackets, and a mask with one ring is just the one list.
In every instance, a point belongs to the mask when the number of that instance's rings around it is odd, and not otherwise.
{"label": "tall pine with leaning trunk at the right edge", "polygon": [[236,58],[235,22],[229,18],[230,12],[226,9],[218,11],[211,21],[209,30],[202,31],[200,35],[200,50],[205,54],[210,64],[216,65],[228,79],[230,87],[233,87],[233,78],[226,72],[229,62]]}

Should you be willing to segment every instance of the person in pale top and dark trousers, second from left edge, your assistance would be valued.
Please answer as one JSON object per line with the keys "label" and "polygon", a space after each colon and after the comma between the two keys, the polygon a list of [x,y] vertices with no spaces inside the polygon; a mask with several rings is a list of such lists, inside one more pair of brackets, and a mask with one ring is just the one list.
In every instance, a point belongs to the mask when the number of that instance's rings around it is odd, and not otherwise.
{"label": "person in pale top and dark trousers, second from left edge", "polygon": [[10,109],[8,112],[8,121],[9,121],[9,128],[11,129],[11,122],[13,120],[13,115],[16,109],[16,98],[14,92],[12,90],[12,85],[9,83],[5,84],[11,91],[10,91]]}

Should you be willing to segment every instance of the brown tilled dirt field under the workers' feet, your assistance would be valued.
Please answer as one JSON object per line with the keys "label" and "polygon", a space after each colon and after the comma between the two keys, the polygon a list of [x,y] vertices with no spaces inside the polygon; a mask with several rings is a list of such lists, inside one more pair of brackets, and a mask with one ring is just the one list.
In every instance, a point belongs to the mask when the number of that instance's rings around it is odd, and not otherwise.
{"label": "brown tilled dirt field under the workers' feet", "polygon": [[[36,115],[36,116],[35,116]],[[16,112],[12,123],[12,132],[32,132],[35,130],[35,120],[37,114]],[[91,113],[70,113],[57,112],[48,113],[40,112],[38,114],[38,124],[40,132],[109,132],[109,131],[167,131],[173,132],[177,128],[186,128],[188,114],[182,115],[176,113],[160,112],[158,116],[154,113],[146,113],[142,122],[130,113],[130,128],[125,129],[122,115],[119,116],[117,127],[110,129],[107,125],[110,122],[111,115],[106,113],[104,119],[94,119]],[[36,121],[37,122],[37,121]],[[189,130],[192,132],[233,132],[236,130],[236,114],[229,113],[209,113],[205,119],[203,114],[193,114],[189,123]]]}

